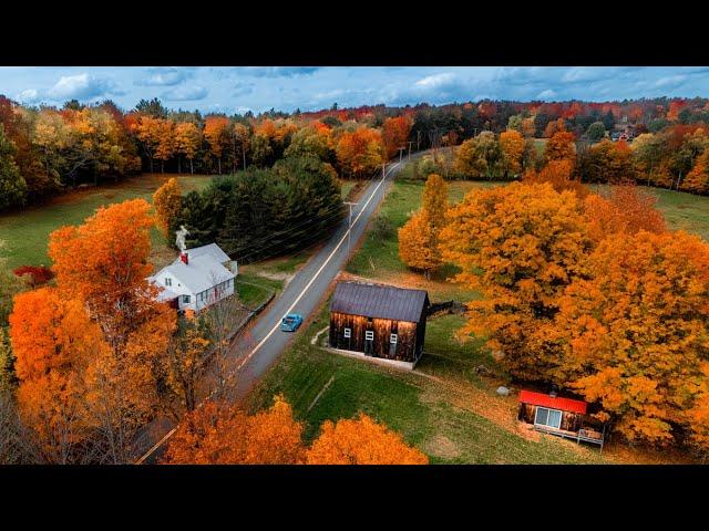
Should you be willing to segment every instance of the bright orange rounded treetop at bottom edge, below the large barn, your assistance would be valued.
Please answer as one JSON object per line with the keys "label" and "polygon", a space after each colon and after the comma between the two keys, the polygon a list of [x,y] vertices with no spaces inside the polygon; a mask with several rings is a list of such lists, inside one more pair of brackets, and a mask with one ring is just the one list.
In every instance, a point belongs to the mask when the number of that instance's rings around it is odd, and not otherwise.
{"label": "bright orange rounded treetop at bottom edge, below the large barn", "polygon": [[326,420],[307,452],[308,465],[428,465],[429,458],[367,415]]}

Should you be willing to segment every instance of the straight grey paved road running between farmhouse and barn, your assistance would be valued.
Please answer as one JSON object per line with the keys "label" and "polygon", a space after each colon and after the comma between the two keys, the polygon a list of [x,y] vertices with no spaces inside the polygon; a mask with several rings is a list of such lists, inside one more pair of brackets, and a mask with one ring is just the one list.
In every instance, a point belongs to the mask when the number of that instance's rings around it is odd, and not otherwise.
{"label": "straight grey paved road running between farmhouse and barn", "polygon": [[[420,152],[411,158],[418,158]],[[367,223],[377,207],[381,204],[393,176],[404,166],[400,163],[387,165],[386,177],[374,178],[360,195],[358,205],[352,207],[352,249],[358,243]],[[290,280],[280,296],[250,326],[249,334],[242,334],[232,347],[232,355],[240,356],[238,361],[237,397],[243,398],[250,387],[266,373],[268,367],[284,352],[294,336],[301,333],[289,333],[279,330],[280,320],[287,313],[299,313],[306,321],[325,296],[328,287],[347,262],[348,248],[348,219],[346,218],[336,230],[329,241],[302,267]],[[164,425],[162,433],[168,431],[172,426]],[[165,439],[166,440],[166,439]],[[164,442],[163,440],[162,442]],[[161,454],[161,448],[154,448],[150,457],[144,456],[144,462],[150,464]],[[138,461],[142,462],[142,461]]]}

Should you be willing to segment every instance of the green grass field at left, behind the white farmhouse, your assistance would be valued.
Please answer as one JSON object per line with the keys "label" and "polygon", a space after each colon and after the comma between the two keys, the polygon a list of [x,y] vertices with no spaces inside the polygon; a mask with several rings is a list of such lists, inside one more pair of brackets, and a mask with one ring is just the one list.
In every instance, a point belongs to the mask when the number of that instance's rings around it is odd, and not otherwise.
{"label": "green grass field at left, behind the white farmhouse", "polygon": [[[183,192],[202,189],[212,179],[210,176],[146,174],[116,185],[71,191],[45,205],[0,215],[0,240],[6,242],[3,252],[8,264],[11,268],[24,264],[49,266],[47,243],[52,231],[64,225],[82,223],[101,206],[136,198],[152,202],[153,192],[169,177],[177,178]],[[157,231],[152,236],[154,244],[164,243]]]}

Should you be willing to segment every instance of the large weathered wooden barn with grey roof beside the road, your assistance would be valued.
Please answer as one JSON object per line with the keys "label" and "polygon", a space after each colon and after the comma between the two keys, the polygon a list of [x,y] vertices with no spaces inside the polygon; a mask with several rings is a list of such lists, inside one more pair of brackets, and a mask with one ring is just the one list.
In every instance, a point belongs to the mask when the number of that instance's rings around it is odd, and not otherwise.
{"label": "large weathered wooden barn with grey roof beside the road", "polygon": [[412,367],[423,353],[429,306],[422,290],[339,282],[330,303],[330,346]]}

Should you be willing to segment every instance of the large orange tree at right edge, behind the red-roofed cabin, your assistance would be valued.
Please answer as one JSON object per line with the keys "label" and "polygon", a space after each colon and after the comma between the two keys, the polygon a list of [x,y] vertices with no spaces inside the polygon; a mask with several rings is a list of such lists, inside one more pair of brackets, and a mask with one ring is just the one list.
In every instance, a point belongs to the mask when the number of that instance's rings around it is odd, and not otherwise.
{"label": "large orange tree at right edge, behind the red-roofed cabin", "polygon": [[554,379],[599,402],[628,439],[669,442],[681,426],[706,444],[709,244],[682,231],[612,235],[589,270],[544,331],[559,347]]}

